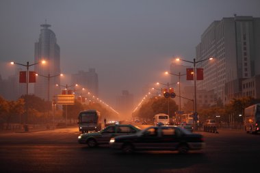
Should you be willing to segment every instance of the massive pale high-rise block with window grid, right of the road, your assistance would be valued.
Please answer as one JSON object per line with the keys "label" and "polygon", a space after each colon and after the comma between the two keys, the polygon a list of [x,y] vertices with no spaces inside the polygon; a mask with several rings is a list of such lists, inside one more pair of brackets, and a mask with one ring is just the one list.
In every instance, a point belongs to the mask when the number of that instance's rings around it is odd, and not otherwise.
{"label": "massive pale high-rise block with window grid, right of the road", "polygon": [[204,68],[204,80],[197,90],[213,90],[214,100],[229,103],[243,96],[242,81],[260,75],[260,18],[234,16],[214,21],[196,46],[196,61],[213,57],[197,67]]}

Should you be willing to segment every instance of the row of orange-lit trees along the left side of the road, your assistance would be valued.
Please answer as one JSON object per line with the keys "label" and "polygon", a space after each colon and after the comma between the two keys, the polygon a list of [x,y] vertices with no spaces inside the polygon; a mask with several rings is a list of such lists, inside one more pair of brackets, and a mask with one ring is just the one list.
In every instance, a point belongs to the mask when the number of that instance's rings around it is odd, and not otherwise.
{"label": "row of orange-lit trees along the left side of the road", "polygon": [[[52,104],[48,101],[44,101],[44,99],[39,98],[38,96],[29,94],[27,95],[28,105],[26,105],[25,99],[26,97],[23,95],[21,98],[18,98],[17,101],[7,101],[0,96],[0,125],[4,123],[25,124],[25,116],[27,116],[26,107],[28,107],[27,122],[29,124],[46,124],[53,121],[53,116],[55,116],[55,120],[65,120],[66,118],[66,106],[61,107],[56,105],[55,115],[53,115],[54,111]],[[67,118],[70,120],[77,120],[79,111],[86,109],[96,109],[106,118],[118,118],[117,114],[100,103],[83,105],[77,100],[75,101],[75,105],[68,105]]]}

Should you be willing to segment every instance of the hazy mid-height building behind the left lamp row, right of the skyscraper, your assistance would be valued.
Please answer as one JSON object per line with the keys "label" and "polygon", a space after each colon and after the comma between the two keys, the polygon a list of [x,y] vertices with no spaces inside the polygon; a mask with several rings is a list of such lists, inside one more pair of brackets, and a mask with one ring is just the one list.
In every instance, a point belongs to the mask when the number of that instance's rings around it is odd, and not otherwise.
{"label": "hazy mid-height building behind the left lamp row, right of the skyscraper", "polygon": [[77,74],[71,75],[71,82],[86,88],[94,96],[99,96],[99,77],[94,68],[90,68],[88,72],[79,70]]}

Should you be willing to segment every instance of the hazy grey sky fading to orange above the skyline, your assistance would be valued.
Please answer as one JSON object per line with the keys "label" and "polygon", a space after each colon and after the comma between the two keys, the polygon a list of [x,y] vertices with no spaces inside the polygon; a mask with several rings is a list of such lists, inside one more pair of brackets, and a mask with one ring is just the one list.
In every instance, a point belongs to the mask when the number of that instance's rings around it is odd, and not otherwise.
{"label": "hazy grey sky fading to orange above the skyline", "polygon": [[34,42],[47,19],[61,49],[62,85],[70,84],[70,74],[95,68],[99,98],[114,105],[129,90],[137,104],[144,86],[170,81],[163,73],[172,57],[195,57],[213,21],[260,17],[259,9],[259,0],[0,0],[0,75],[14,75],[8,62],[34,62]]}

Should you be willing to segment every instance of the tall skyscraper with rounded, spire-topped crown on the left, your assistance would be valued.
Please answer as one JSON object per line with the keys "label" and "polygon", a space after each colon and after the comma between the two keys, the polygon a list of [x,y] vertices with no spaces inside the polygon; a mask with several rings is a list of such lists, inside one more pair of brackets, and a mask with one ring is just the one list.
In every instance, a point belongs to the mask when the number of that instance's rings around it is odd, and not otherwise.
{"label": "tall skyscraper with rounded, spire-topped crown on the left", "polygon": [[[40,38],[34,44],[34,61],[40,62],[42,59],[47,61],[47,64],[34,66],[38,77],[34,85],[34,94],[45,101],[52,100],[52,96],[60,94],[60,88],[55,84],[60,85],[60,46],[57,44],[56,36],[49,27],[51,25],[40,25]],[[44,77],[43,77],[44,76]],[[56,77],[53,77],[56,76]],[[48,96],[49,93],[49,96]]]}

